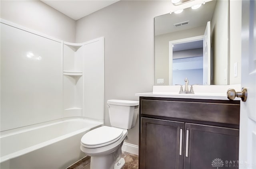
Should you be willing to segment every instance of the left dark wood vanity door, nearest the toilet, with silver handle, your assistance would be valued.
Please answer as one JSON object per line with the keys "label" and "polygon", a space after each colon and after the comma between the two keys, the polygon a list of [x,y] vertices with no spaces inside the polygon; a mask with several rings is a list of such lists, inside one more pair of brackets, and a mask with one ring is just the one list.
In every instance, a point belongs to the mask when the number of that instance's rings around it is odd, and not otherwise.
{"label": "left dark wood vanity door, nearest the toilet, with silver handle", "polygon": [[184,123],[141,118],[140,169],[182,169]]}

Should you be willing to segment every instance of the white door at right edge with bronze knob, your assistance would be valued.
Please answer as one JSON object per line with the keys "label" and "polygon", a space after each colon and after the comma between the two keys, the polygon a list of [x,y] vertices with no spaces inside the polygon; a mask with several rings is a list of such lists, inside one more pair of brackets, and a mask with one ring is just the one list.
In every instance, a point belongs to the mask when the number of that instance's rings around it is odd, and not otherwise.
{"label": "white door at right edge with bronze knob", "polygon": [[239,169],[256,169],[256,1],[242,1],[242,78],[248,88],[240,106]]}

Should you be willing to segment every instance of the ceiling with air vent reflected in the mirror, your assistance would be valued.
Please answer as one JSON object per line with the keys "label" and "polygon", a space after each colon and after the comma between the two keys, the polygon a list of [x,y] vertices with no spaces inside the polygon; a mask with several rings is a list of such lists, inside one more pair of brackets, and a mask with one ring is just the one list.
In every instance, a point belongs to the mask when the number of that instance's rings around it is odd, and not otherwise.
{"label": "ceiling with air vent reflected in the mirror", "polygon": [[[173,12],[172,14],[158,16],[155,18],[155,35],[206,26],[206,23],[212,20],[215,5],[216,1],[214,0],[207,2],[196,10],[186,8],[180,14]],[[188,25],[174,28],[174,24],[186,21],[189,21]]]}

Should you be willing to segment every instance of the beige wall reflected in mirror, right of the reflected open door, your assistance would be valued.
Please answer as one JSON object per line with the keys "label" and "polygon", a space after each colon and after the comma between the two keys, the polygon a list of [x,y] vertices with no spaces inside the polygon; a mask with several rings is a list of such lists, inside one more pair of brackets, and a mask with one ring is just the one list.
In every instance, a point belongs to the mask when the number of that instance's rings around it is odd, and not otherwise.
{"label": "beige wall reflected in mirror, right of the reflected open door", "polygon": [[[213,84],[228,85],[228,1],[218,0],[211,20]],[[234,49],[236,50],[236,49]],[[226,70],[226,71],[225,71]],[[226,72],[226,75],[225,75]],[[225,78],[226,77],[226,78]]]}

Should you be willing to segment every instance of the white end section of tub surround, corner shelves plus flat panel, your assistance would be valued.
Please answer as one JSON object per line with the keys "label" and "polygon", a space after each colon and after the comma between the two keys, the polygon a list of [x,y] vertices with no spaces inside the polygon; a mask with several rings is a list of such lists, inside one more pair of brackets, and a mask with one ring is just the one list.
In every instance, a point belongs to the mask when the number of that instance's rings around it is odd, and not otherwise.
{"label": "white end section of tub surround, corner shelves plus flat panel", "polygon": [[104,120],[104,37],[63,42],[62,50],[64,117]]}

